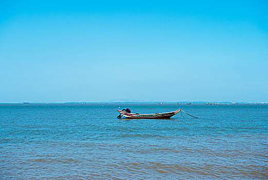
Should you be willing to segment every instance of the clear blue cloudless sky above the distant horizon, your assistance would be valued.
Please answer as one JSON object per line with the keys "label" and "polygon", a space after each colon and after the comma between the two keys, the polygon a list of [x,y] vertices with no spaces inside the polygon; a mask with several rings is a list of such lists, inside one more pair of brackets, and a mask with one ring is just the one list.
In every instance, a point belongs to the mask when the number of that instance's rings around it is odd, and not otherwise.
{"label": "clear blue cloudless sky above the distant horizon", "polygon": [[0,102],[268,101],[267,1],[1,1]]}

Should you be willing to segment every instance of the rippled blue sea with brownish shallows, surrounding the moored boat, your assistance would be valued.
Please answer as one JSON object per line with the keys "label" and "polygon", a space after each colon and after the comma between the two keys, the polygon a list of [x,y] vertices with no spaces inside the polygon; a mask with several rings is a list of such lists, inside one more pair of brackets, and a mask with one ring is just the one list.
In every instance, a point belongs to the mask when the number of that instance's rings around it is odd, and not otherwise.
{"label": "rippled blue sea with brownish shallows, surrounding the moored boat", "polygon": [[268,179],[268,105],[2,104],[0,122],[0,179]]}

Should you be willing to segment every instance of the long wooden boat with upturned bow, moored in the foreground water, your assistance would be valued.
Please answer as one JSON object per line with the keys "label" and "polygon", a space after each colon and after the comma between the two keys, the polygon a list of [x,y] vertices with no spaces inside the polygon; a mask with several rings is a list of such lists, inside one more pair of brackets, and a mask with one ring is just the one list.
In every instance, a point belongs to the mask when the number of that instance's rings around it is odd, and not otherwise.
{"label": "long wooden boat with upturned bow, moored in the foreground water", "polygon": [[[117,110],[121,116],[124,116],[128,119],[169,119],[170,117],[174,116],[178,112],[181,111],[181,109],[178,109],[176,111],[168,112],[168,113],[155,113],[155,114],[133,114],[133,113],[126,113],[120,110]],[[119,115],[119,116],[120,116]],[[118,118],[120,118],[118,116]]]}

